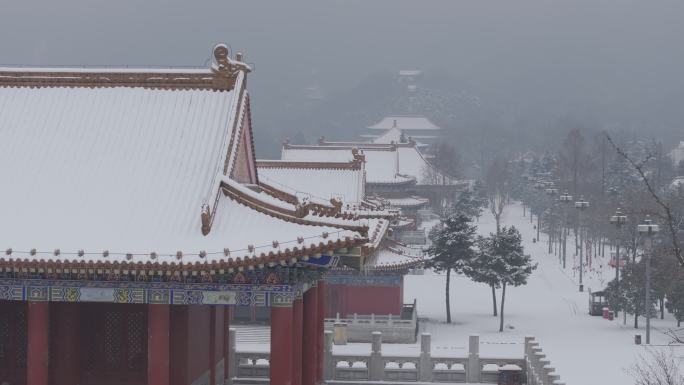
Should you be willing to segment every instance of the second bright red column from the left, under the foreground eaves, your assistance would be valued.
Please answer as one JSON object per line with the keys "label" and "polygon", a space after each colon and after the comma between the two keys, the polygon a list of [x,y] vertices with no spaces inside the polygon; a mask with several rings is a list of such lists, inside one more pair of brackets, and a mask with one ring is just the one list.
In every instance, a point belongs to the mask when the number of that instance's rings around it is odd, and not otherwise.
{"label": "second bright red column from the left, under the foreground eaves", "polygon": [[169,385],[170,305],[147,305],[147,384]]}

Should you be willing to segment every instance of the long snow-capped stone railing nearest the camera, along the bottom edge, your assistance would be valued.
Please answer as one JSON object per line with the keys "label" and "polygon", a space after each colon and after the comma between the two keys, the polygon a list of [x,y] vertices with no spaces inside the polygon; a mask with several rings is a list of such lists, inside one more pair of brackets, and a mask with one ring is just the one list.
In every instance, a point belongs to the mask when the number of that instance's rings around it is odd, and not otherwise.
{"label": "long snow-capped stone railing nearest the camera, along the bottom edge", "polygon": [[[525,351],[521,358],[480,357],[480,338],[476,335],[469,338],[467,357],[433,357],[428,333],[420,336],[418,356],[384,355],[382,337],[380,332],[372,334],[370,354],[334,354],[333,333],[326,331],[326,383],[385,381],[496,384],[502,371],[512,370],[520,377],[520,384],[564,384],[550,367],[534,337],[525,338]],[[237,373],[237,376],[229,383],[267,383],[269,354],[236,352],[234,329],[230,330],[230,338],[230,373]]]}

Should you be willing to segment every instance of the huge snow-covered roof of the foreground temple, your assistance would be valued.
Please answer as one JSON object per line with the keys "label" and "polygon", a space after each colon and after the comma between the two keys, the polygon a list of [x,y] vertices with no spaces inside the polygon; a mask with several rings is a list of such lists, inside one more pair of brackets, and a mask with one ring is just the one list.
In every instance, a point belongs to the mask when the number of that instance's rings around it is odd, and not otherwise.
{"label": "huge snow-covered roof of the foreground temple", "polygon": [[0,261],[233,263],[365,243],[359,221],[299,215],[232,179],[249,156],[247,67],[224,48],[193,84],[0,68]]}

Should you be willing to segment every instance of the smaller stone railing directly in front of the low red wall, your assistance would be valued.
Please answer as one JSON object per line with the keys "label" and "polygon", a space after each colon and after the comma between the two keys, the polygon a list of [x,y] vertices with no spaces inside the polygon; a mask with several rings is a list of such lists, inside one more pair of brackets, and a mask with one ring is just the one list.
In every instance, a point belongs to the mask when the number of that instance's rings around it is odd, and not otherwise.
{"label": "smaller stone railing directly in front of the low red wall", "polygon": [[336,327],[345,328],[344,334],[349,342],[371,342],[371,334],[379,331],[385,342],[414,343],[418,331],[416,303],[404,305],[404,308],[410,307],[412,307],[410,319],[402,319],[398,315],[391,314],[354,314],[348,318],[340,318],[338,314],[336,318],[325,319],[325,329],[334,331]]}

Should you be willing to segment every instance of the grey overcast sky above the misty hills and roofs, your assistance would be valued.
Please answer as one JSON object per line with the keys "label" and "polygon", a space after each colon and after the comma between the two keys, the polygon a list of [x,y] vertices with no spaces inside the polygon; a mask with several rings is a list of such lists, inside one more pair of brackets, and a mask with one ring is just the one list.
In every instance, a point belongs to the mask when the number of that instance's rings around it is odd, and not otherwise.
{"label": "grey overcast sky above the misty hills and roofs", "polygon": [[446,70],[504,107],[683,117],[681,0],[0,5],[0,63],[203,66],[226,42],[254,64],[262,114],[307,85],[335,91],[376,71],[419,67]]}

